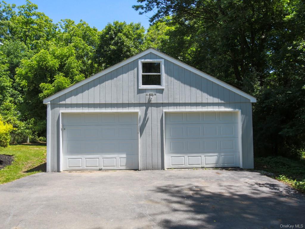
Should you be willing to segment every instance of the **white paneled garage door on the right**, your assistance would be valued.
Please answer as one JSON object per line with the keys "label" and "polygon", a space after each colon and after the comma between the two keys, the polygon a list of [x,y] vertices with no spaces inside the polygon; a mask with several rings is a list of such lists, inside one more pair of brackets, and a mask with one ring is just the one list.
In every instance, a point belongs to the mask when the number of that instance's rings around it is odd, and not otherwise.
{"label": "white paneled garage door on the right", "polygon": [[237,112],[166,112],[165,167],[239,167]]}

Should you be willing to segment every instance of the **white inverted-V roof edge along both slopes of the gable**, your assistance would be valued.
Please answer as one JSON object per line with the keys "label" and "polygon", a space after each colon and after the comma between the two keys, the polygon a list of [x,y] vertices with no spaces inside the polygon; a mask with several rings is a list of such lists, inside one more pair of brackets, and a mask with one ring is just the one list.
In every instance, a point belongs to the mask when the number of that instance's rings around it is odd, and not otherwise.
{"label": "white inverted-V roof edge along both slopes of the gable", "polygon": [[249,95],[249,94],[247,94],[247,93],[237,89],[236,87],[234,87],[232,85],[229,85],[229,84],[227,84],[227,83],[225,83],[225,82],[223,82],[223,81],[221,81],[221,80],[219,80],[219,79],[217,79],[217,78],[215,78],[213,76],[210,76],[210,75],[208,75],[208,74],[206,74],[206,73],[204,73],[202,71],[199,71],[198,69],[196,69],[196,68],[194,68],[192,66],[189,66],[188,64],[185,64],[185,63],[183,63],[183,62],[181,62],[179,60],[176,60],[173,57],[170,57],[170,56],[166,55],[165,53],[161,53],[160,51],[158,51],[158,50],[156,50],[154,48],[149,48],[149,49],[146,49],[146,50],[142,51],[141,53],[138,53],[135,56],[131,56],[130,58],[121,61],[118,64],[115,64],[115,65],[113,65],[113,66],[111,66],[109,68],[106,68],[105,70],[100,71],[100,72],[96,73],[95,75],[92,75],[92,76],[82,80],[81,82],[78,82],[78,83],[76,83],[74,85],[71,85],[70,87],[67,87],[66,89],[63,89],[63,90],[53,94],[52,96],[49,96],[49,97],[45,98],[43,100],[43,103],[44,104],[48,104],[48,103],[50,103],[51,100],[56,99],[59,96],[65,94],[67,92],[70,92],[73,89],[76,89],[76,88],[78,88],[78,87],[80,87],[80,86],[82,86],[82,85],[84,85],[84,84],[86,84],[86,83],[88,83],[88,82],[90,82],[92,80],[95,80],[96,78],[99,78],[100,76],[105,75],[105,74],[107,74],[107,73],[117,69],[118,67],[122,67],[123,65],[128,64],[131,61],[137,60],[141,56],[144,56],[144,55],[146,55],[148,53],[154,53],[154,54],[156,54],[156,55],[158,55],[158,56],[160,56],[160,57],[162,57],[162,58],[164,58],[166,60],[169,60],[169,61],[173,62],[174,64],[177,64],[178,66],[184,67],[185,69],[187,69],[189,71],[192,71],[192,72],[196,73],[197,75],[200,75],[200,76],[202,76],[202,77],[204,77],[204,78],[206,78],[206,79],[208,79],[208,80],[210,80],[212,82],[215,82],[218,85],[221,85],[221,86],[223,86],[223,87],[225,87],[225,88],[227,88],[227,89],[229,89],[229,90],[231,90],[231,91],[233,91],[233,92],[235,92],[235,93],[237,93],[237,94],[239,94],[239,95],[249,99],[251,103],[255,103],[256,102],[256,98],[255,97],[253,97],[253,96],[251,96],[251,95]]}

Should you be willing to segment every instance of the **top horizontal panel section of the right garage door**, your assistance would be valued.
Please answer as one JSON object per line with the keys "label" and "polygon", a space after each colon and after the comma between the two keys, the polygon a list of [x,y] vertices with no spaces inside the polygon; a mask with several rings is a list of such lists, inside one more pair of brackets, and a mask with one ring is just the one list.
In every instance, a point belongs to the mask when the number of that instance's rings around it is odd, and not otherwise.
{"label": "top horizontal panel section of the right garage door", "polygon": [[166,114],[166,124],[238,123],[237,112],[173,112]]}

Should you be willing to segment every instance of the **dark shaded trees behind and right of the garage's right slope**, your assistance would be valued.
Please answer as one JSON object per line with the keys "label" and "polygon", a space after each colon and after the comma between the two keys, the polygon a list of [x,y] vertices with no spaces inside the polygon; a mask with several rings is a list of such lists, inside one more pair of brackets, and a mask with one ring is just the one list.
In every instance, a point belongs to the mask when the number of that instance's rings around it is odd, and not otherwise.
{"label": "dark shaded trees behind and right of the garage's right slope", "polygon": [[152,46],[257,97],[257,156],[300,156],[305,147],[304,1],[138,2],[133,7],[140,14],[155,13],[146,38],[156,43]]}

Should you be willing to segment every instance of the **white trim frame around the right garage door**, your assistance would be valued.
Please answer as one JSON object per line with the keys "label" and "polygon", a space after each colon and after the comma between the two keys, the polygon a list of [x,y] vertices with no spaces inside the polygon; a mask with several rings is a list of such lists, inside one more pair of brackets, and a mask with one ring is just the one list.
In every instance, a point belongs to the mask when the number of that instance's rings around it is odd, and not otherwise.
{"label": "white trim frame around the right garage door", "polygon": [[166,168],[166,160],[165,160],[165,113],[185,113],[185,112],[196,112],[196,113],[202,113],[202,112],[237,112],[238,114],[238,131],[239,131],[239,167],[242,168],[242,112],[241,110],[163,110],[163,166],[164,170],[167,170]]}

